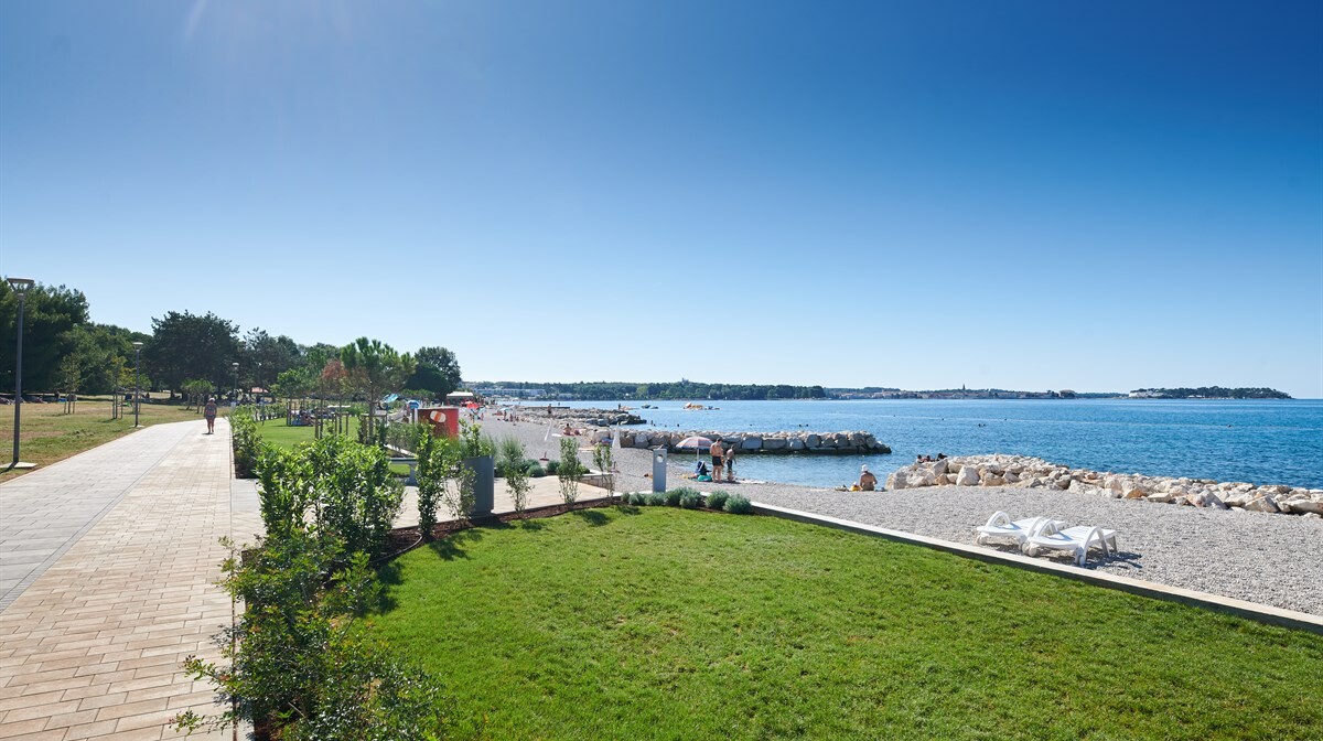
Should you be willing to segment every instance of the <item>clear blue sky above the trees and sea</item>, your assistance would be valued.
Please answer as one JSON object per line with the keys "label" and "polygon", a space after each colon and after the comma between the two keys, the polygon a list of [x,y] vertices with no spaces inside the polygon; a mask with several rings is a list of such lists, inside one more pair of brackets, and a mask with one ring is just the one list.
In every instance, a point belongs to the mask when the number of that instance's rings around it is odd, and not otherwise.
{"label": "clear blue sky above the trees and sea", "polygon": [[470,380],[1323,397],[1323,4],[5,0],[0,273]]}

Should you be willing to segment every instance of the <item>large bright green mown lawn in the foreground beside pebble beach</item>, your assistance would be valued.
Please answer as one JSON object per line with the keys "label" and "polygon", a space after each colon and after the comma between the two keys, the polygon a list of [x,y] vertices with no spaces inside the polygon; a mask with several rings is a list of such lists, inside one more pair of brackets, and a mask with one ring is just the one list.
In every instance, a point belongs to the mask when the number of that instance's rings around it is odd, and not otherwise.
{"label": "large bright green mown lawn in the foreground beside pebble beach", "polygon": [[385,576],[369,630],[467,737],[1323,733],[1323,636],[771,517],[576,512]]}

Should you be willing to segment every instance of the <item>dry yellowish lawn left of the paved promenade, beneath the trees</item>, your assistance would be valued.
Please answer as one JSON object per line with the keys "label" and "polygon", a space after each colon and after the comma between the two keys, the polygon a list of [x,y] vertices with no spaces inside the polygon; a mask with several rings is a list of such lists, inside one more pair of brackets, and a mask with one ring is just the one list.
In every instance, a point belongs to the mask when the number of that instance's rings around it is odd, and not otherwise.
{"label": "dry yellowish lawn left of the paved promenade, beneath the trees", "polygon": [[[134,409],[124,406],[119,419],[111,419],[108,397],[82,398],[74,414],[65,414],[64,404],[24,404],[20,457],[29,463],[49,466],[98,445],[134,431]],[[224,414],[224,412],[222,412]],[[183,405],[143,402],[139,423],[146,426],[163,422],[196,419],[205,431],[202,413]],[[25,471],[5,471],[13,458],[13,406],[0,406],[0,480],[19,476]]]}

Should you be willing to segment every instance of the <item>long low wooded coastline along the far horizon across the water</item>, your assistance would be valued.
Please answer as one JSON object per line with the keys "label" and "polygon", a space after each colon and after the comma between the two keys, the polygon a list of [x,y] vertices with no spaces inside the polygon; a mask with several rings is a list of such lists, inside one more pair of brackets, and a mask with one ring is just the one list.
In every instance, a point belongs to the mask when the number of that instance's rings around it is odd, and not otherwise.
{"label": "long low wooded coastline along the far horizon across the water", "polygon": [[667,401],[667,400],[734,400],[734,401],[775,401],[795,398],[816,400],[857,400],[857,398],[1291,398],[1275,389],[1224,389],[1222,386],[1201,386],[1197,389],[1135,389],[1132,392],[1076,392],[1060,390],[1012,390],[1012,389],[931,389],[905,390],[898,388],[826,388],[820,385],[798,386],[789,384],[704,384],[680,378],[663,382],[632,381],[578,381],[528,382],[528,381],[470,381],[466,386],[487,397],[540,398],[556,401]]}

